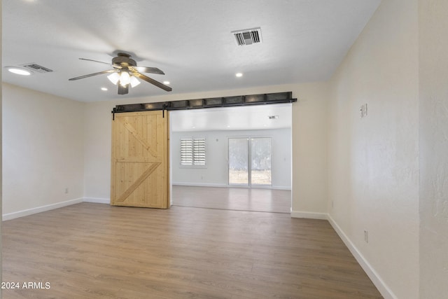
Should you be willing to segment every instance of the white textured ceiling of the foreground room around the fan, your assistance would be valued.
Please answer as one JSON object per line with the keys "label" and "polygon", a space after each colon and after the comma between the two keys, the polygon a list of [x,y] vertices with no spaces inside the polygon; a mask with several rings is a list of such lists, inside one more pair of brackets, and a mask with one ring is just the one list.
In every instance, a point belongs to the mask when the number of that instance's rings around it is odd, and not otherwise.
{"label": "white textured ceiling of the foreground room around the fan", "polygon": [[[83,102],[167,93],[142,83],[117,95],[106,75],[68,81],[108,69],[78,58],[111,62],[117,50],[165,71],[150,76],[170,81],[172,93],[325,81],[379,2],[3,0],[3,81]],[[263,43],[237,46],[230,32],[253,27],[261,27]],[[53,72],[4,69],[31,62]]]}

